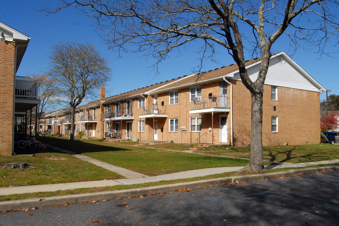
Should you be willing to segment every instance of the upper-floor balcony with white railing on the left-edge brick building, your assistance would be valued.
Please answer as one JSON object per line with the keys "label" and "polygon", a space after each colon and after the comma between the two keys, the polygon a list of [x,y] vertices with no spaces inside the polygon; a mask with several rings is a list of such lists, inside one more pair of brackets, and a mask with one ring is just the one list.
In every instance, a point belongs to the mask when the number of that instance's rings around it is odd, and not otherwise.
{"label": "upper-floor balcony with white railing on the left-edge brick building", "polygon": [[16,76],[15,78],[15,116],[23,116],[26,110],[40,103],[38,82],[31,77]]}

